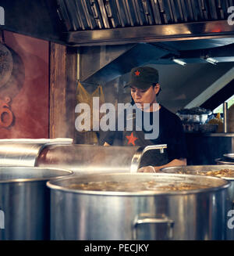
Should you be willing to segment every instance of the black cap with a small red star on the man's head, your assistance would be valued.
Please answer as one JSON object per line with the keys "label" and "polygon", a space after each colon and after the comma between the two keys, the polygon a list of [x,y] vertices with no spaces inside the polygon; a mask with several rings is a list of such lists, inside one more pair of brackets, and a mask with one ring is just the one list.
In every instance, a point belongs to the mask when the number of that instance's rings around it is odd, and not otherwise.
{"label": "black cap with a small red star on the man's head", "polygon": [[147,89],[153,84],[158,84],[158,70],[153,67],[133,67],[130,73],[130,81],[124,87],[134,86]]}

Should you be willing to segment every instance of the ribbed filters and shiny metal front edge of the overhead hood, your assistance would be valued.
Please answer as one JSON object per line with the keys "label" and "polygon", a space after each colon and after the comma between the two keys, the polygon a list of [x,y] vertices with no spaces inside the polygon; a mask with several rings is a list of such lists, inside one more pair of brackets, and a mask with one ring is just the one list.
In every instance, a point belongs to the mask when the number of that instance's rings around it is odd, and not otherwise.
{"label": "ribbed filters and shiny metal front edge of the overhead hood", "polygon": [[82,0],[79,4],[58,0],[58,3],[58,13],[69,31],[64,40],[77,46],[222,36],[233,32],[226,21],[231,3],[215,0]]}

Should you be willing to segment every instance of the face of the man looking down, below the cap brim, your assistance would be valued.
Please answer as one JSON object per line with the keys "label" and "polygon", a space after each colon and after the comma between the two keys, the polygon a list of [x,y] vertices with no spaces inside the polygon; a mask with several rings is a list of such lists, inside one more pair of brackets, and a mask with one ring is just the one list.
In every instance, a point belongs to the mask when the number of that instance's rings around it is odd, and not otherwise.
{"label": "face of the man looking down, below the cap brim", "polygon": [[[158,93],[160,89],[160,85],[152,86],[147,89],[140,89],[134,86],[131,86],[131,96],[133,97],[133,100],[138,106],[140,106],[141,109],[144,107],[144,103],[149,103],[150,107],[152,108],[153,103],[157,103],[156,101],[156,94]],[[146,110],[146,109],[144,109]]]}

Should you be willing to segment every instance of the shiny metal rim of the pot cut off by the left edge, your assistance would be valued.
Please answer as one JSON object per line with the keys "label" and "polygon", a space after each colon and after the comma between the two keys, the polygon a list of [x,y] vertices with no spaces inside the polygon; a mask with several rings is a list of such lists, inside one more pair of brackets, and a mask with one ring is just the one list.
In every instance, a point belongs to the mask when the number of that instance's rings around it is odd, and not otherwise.
{"label": "shiny metal rim of the pot cut off by the left edge", "polygon": [[52,180],[52,179],[57,179],[57,178],[63,178],[63,177],[66,177],[67,175],[73,175],[74,172],[73,171],[70,171],[68,169],[62,169],[62,168],[43,168],[43,167],[18,167],[18,166],[0,166],[0,173],[1,173],[1,170],[2,169],[15,169],[15,170],[18,170],[18,169],[24,169],[24,170],[28,170],[28,169],[34,169],[35,171],[36,170],[49,170],[49,171],[59,171],[59,172],[62,172],[62,173],[59,175],[51,175],[51,177],[44,177],[44,178],[9,178],[9,179],[6,179],[6,180],[1,180],[0,179],[0,185],[1,184],[5,184],[5,183],[16,183],[16,182],[41,182],[41,181],[48,181],[48,180]]}

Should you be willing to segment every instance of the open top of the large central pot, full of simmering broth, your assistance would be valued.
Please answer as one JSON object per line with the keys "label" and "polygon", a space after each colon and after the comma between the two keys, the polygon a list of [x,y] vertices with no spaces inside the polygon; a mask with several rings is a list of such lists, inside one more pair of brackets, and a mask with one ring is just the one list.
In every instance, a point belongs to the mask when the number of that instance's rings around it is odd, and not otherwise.
{"label": "open top of the large central pot, full of simmering broth", "polygon": [[[93,183],[93,184],[91,184]],[[90,189],[92,185],[101,184],[101,189]],[[91,186],[90,186],[91,185]],[[109,186],[114,185],[114,188]],[[115,186],[116,185],[116,186]],[[133,185],[136,186],[133,187]],[[150,186],[142,189],[143,185]],[[112,173],[98,175],[80,175],[47,182],[50,189],[67,193],[94,194],[106,196],[157,196],[186,195],[190,193],[207,193],[228,188],[229,181],[198,175],[175,175],[166,173]],[[82,186],[89,186],[82,189]],[[105,187],[107,186],[107,187]],[[116,189],[119,188],[119,189]],[[131,188],[129,190],[129,187]],[[108,189],[107,189],[108,188]],[[182,188],[182,189],[181,189]]]}

